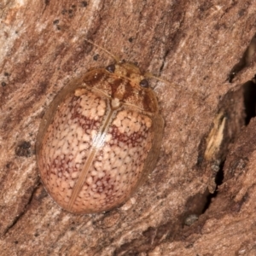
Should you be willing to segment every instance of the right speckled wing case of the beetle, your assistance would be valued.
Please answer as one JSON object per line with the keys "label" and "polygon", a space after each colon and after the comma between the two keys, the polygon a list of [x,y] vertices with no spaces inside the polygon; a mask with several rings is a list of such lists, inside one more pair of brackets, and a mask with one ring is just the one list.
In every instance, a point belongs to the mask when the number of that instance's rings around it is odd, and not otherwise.
{"label": "right speckled wing case of the beetle", "polygon": [[135,188],[148,150],[152,146],[152,125],[147,116],[131,110],[117,113],[108,128],[106,142],[89,168],[74,211],[109,209],[124,201]]}

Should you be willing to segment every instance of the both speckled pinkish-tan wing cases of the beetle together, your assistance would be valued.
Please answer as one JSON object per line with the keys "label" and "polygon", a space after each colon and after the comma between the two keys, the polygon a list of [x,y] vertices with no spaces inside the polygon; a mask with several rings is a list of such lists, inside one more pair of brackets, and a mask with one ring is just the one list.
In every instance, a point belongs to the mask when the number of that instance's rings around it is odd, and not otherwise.
{"label": "both speckled pinkish-tan wing cases of the beetle together", "polygon": [[[143,172],[154,137],[152,120],[131,109],[113,110],[111,101],[90,90],[76,90],[75,96],[61,103],[45,135],[44,185],[71,212],[97,212],[119,205],[131,195]],[[99,147],[101,143],[94,139],[103,124],[104,143]],[[90,155],[94,158],[85,169]],[[69,205],[81,173],[86,174],[85,182]]]}

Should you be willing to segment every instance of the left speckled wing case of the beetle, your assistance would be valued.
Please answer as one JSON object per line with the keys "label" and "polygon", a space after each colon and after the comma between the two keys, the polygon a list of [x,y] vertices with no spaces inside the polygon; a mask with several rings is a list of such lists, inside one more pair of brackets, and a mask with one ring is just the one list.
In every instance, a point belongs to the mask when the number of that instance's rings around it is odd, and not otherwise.
{"label": "left speckled wing case of the beetle", "polygon": [[106,102],[93,93],[84,92],[84,95],[67,98],[49,125],[42,148],[44,173],[41,176],[46,177],[44,185],[62,207],[67,207],[67,196],[72,194],[105,110]]}

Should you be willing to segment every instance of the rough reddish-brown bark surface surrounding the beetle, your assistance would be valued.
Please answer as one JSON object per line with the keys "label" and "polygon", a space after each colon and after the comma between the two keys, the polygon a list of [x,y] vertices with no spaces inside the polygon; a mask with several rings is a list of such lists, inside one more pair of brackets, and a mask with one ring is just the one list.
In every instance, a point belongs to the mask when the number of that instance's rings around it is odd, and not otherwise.
{"label": "rough reddish-brown bark surface surrounding the beetle", "polygon": [[[254,62],[227,78],[255,33],[255,3],[2,1],[0,254],[254,255],[255,121],[238,137]],[[84,38],[176,85],[151,81],[166,126],[148,181],[122,207],[73,215],[40,183],[35,143],[61,88],[113,62]]]}

